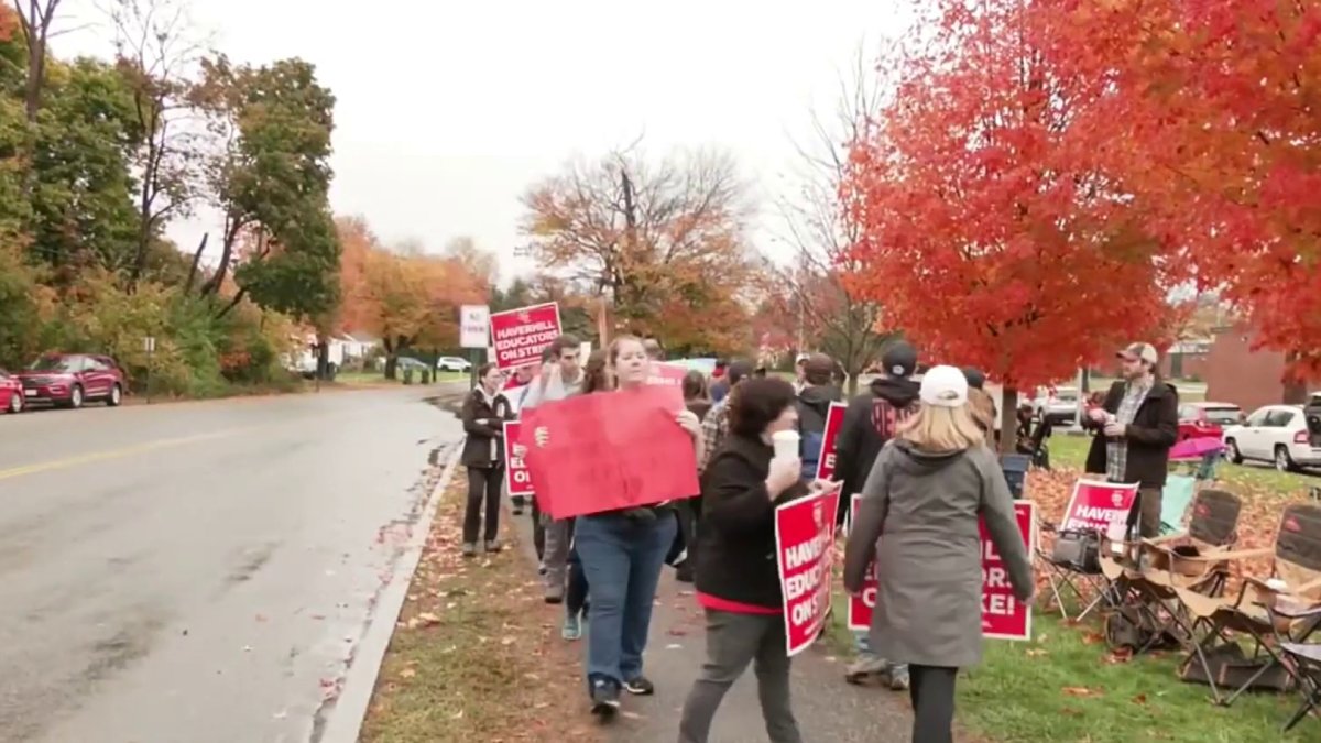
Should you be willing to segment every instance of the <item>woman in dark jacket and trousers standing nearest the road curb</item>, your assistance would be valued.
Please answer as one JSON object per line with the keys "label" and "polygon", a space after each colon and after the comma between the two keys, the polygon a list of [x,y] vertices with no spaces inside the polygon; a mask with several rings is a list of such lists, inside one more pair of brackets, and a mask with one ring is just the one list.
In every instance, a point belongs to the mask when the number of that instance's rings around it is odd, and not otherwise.
{"label": "woman in dark jacket and trousers standing nearest the road curb", "polygon": [[514,419],[513,407],[501,386],[505,375],[494,364],[477,370],[477,386],[464,398],[458,416],[468,440],[460,460],[468,468],[468,505],[464,509],[464,557],[477,554],[482,501],[486,505],[485,547],[501,551],[499,493],[505,483],[505,422]]}

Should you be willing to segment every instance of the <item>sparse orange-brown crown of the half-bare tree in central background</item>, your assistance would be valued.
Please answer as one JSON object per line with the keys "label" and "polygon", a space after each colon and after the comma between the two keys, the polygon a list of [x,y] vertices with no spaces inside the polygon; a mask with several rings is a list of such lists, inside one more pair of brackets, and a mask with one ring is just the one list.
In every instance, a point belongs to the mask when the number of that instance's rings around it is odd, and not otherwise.
{"label": "sparse orange-brown crown of the half-bare tree in central background", "polygon": [[732,354],[750,341],[757,267],[733,161],[696,152],[647,163],[613,153],[571,163],[523,197],[526,253],[609,309],[617,332],[676,352]]}

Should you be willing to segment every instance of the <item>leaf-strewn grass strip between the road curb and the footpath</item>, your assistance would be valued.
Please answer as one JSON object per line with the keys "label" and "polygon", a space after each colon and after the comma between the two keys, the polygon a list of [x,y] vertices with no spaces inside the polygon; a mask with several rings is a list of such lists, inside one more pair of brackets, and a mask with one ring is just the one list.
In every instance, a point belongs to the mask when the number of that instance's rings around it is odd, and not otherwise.
{"label": "leaf-strewn grass strip between the road curb and the footpath", "polygon": [[460,468],[441,494],[359,740],[600,740],[572,706],[583,697],[583,645],[559,637],[560,607],[543,603],[514,530],[502,529],[502,553],[461,557],[465,496]]}

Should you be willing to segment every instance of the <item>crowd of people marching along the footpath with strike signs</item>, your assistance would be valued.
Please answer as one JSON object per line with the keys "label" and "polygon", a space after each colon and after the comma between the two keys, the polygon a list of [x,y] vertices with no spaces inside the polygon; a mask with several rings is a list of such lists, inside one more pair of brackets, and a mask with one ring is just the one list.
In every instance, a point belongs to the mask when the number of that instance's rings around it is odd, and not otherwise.
{"label": "crowd of people marching along the footpath with strike signs", "polygon": [[[503,422],[572,395],[637,389],[662,360],[659,344],[630,336],[587,358],[580,353],[577,338],[561,336],[540,368],[507,377],[494,364],[480,369],[461,410],[465,557],[480,546],[501,549]],[[839,365],[816,353],[798,358],[793,383],[745,361],[717,365],[709,377],[699,370],[684,377],[674,424],[695,447],[701,490],[695,497],[572,520],[548,518],[535,498],[511,498],[515,516],[531,510],[544,599],[564,607],[564,640],[587,636],[593,714],[609,719],[624,694],[655,691],[643,656],[657,587],[670,565],[678,580],[695,584],[707,620],[707,660],[695,669],[679,743],[707,740],[725,693],[749,665],[770,740],[802,742],[790,699],[774,510],[839,488],[863,494],[845,546],[845,588],[860,591],[873,561],[880,586],[871,632],[856,635],[847,680],[908,690],[913,739],[952,739],[956,673],[975,665],[982,648],[979,518],[1020,600],[1030,600],[1032,567],[1012,496],[987,446],[996,411],[982,389],[984,375],[952,366],[919,374],[917,352],[902,341],[888,348],[881,366],[847,402],[830,481],[815,479],[816,460],[830,406],[844,395]],[[635,398],[612,399],[630,405]],[[799,456],[775,456],[771,438],[790,430],[799,435]],[[510,446],[515,456],[526,453],[522,444]],[[843,525],[848,498],[840,504]]]}

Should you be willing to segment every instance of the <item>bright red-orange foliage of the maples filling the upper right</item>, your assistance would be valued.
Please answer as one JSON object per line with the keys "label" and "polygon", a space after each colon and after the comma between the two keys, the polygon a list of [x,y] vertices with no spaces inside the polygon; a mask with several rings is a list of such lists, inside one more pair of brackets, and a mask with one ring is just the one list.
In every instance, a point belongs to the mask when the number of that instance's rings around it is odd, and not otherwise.
{"label": "bright red-orange foliage of the maples filling the upper right", "polygon": [[1022,387],[1173,340],[1196,286],[1321,372],[1321,8],[934,5],[841,188],[882,323]]}

